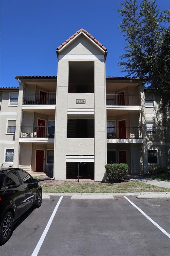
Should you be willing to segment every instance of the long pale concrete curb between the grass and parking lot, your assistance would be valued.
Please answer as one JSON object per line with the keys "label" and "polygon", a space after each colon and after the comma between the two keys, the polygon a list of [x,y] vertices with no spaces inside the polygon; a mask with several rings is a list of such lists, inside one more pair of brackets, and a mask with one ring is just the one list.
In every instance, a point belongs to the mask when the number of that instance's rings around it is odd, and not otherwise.
{"label": "long pale concrete curb between the grass and parking lot", "polygon": [[169,197],[170,192],[127,192],[127,193],[46,193],[48,196],[138,196],[138,195],[162,195],[162,197]]}

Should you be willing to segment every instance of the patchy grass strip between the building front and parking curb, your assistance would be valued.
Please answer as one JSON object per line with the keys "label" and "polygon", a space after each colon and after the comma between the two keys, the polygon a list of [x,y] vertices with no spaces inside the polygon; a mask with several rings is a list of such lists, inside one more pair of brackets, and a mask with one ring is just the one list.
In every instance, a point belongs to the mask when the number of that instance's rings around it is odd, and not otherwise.
{"label": "patchy grass strip between the building front and parking curb", "polygon": [[163,192],[168,188],[156,187],[139,181],[121,183],[55,182],[42,181],[43,192],[53,193],[119,193],[119,192]]}

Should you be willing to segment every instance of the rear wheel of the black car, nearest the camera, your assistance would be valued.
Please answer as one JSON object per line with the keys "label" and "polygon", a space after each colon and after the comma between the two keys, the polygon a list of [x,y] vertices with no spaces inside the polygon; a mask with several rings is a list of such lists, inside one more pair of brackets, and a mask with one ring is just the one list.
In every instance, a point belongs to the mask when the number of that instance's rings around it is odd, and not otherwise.
{"label": "rear wheel of the black car, nearest the camera", "polygon": [[1,244],[6,243],[12,235],[12,226],[13,215],[11,212],[7,212],[1,223]]}

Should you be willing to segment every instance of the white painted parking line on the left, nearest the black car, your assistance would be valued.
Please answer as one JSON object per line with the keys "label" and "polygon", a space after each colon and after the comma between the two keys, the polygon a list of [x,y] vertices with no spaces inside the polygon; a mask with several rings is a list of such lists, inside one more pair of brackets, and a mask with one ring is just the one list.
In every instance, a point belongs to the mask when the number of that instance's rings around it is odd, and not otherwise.
{"label": "white painted parking line on the left, nearest the black car", "polygon": [[49,230],[49,228],[51,226],[51,223],[52,223],[52,221],[54,219],[54,216],[55,216],[55,214],[57,212],[57,209],[58,209],[58,207],[60,205],[60,202],[61,202],[62,198],[63,198],[63,196],[60,197],[60,199],[59,199],[59,201],[58,201],[58,203],[57,203],[57,205],[56,205],[56,207],[55,207],[55,209],[54,209],[54,211],[53,211],[53,213],[52,213],[52,215],[51,215],[51,217],[50,217],[50,219],[49,219],[49,221],[47,223],[47,226],[44,229],[44,232],[43,232],[40,240],[38,241],[38,244],[37,244],[36,248],[34,249],[34,251],[33,251],[31,256],[37,256],[38,255],[38,252],[39,252],[39,250],[40,250],[40,248],[42,246],[42,243],[43,243],[43,241],[44,241],[44,239],[45,239],[45,237],[47,235],[47,232],[48,232],[48,230]]}

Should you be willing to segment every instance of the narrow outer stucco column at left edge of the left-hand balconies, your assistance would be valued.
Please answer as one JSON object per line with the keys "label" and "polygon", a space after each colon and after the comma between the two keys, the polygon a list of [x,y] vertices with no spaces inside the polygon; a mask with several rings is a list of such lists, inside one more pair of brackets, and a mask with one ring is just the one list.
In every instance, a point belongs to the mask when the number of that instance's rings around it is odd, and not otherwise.
{"label": "narrow outer stucco column at left edge of the left-hand balconies", "polygon": [[19,168],[20,162],[20,127],[22,123],[22,103],[23,103],[23,88],[24,82],[21,82],[19,88],[19,95],[18,95],[18,110],[17,110],[17,120],[16,120],[16,129],[15,129],[15,144],[14,144],[14,164],[13,167]]}

